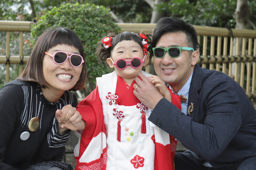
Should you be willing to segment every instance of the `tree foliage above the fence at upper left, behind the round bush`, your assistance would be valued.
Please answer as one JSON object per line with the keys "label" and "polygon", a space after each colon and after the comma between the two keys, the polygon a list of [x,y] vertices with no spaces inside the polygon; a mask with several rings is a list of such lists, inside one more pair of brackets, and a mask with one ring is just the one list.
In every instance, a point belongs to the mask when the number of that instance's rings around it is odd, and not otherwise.
{"label": "tree foliage above the fence at upper left, behind the round bush", "polygon": [[[31,11],[33,9],[31,9],[29,1],[32,0],[0,0],[0,19],[18,20],[18,18],[16,19],[17,15],[23,15],[23,20],[32,20],[33,16]],[[33,7],[36,16],[40,16],[54,7],[60,7],[60,5],[65,5],[67,3],[90,3],[95,5],[102,5],[111,9],[111,11],[114,12],[115,15],[122,19],[124,22],[150,22],[151,19],[151,7],[145,1],[141,0],[44,0],[33,1]]]}

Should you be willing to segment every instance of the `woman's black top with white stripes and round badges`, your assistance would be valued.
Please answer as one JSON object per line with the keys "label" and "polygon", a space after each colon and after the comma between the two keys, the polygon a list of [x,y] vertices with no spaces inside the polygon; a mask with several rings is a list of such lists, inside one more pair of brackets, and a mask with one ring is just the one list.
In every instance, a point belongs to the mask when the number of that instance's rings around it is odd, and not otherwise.
{"label": "woman's black top with white stripes and round badges", "polygon": [[[61,161],[70,130],[59,134],[55,111],[68,104],[77,105],[73,92],[65,91],[56,103],[51,103],[34,82],[14,80],[1,88],[0,169],[24,169],[37,162]],[[28,128],[33,117],[40,121],[35,132]]]}

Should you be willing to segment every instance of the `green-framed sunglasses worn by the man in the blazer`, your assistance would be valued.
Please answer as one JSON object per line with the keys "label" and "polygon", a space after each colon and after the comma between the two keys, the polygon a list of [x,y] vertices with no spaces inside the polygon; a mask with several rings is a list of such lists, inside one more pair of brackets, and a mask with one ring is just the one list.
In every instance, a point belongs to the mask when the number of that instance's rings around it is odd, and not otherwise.
{"label": "green-framed sunglasses worn by the man in the blazer", "polygon": [[168,55],[171,58],[177,58],[180,56],[181,54],[181,50],[186,50],[186,51],[191,51],[193,50],[193,52],[195,51],[194,48],[191,47],[182,47],[182,46],[172,46],[169,48],[163,48],[163,47],[154,47],[153,49],[153,53],[154,56],[156,58],[163,58],[163,56],[165,55],[165,52],[168,52]]}

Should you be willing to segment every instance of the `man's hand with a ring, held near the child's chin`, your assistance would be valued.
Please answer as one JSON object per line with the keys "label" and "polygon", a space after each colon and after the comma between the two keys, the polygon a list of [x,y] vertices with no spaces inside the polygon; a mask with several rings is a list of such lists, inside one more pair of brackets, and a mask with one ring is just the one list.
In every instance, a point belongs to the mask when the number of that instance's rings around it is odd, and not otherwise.
{"label": "man's hand with a ring, held near the child's chin", "polygon": [[154,109],[157,103],[163,98],[158,88],[150,82],[142,73],[139,74],[141,80],[136,77],[134,84],[134,95],[148,108]]}

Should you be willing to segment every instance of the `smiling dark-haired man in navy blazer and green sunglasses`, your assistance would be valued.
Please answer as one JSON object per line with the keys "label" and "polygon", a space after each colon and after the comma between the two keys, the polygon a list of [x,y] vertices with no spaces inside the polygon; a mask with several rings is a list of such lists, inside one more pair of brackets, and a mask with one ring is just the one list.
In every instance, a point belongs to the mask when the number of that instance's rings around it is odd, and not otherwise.
{"label": "smiling dark-haired man in navy blazer and green sunglasses", "polygon": [[256,110],[240,85],[219,71],[201,68],[193,26],[161,18],[152,52],[156,74],[182,96],[182,112],[165,100],[142,74],[137,98],[154,109],[152,123],[188,150],[176,153],[175,169],[255,169]]}

